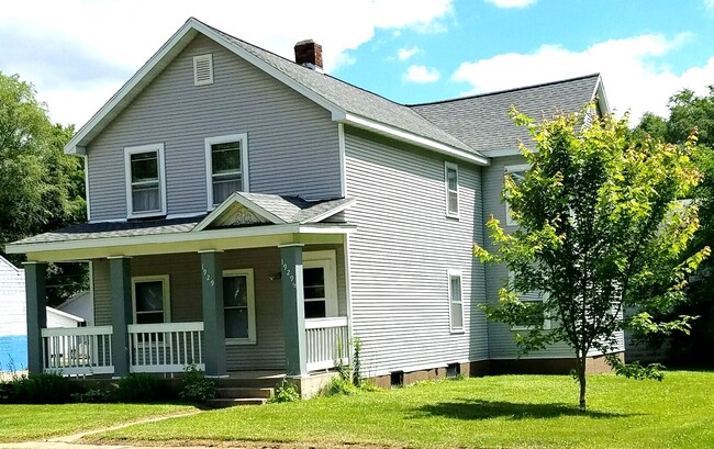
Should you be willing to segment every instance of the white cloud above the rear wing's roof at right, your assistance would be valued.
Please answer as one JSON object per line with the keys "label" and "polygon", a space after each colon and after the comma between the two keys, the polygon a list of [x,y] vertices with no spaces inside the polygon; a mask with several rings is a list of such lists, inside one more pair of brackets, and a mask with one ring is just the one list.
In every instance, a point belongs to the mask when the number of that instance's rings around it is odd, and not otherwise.
{"label": "white cloud above the rear wing's roof at right", "polygon": [[691,37],[688,33],[671,40],[648,34],[602,42],[583,52],[543,45],[531,54],[509,53],[462,63],[451,79],[471,85],[465,93],[480,93],[600,72],[611,109],[618,114],[631,110],[632,121],[637,123],[646,111],[667,116],[669,97],[685,87],[705,93],[714,79],[714,57],[680,75],[658,63],[658,57],[680,49]]}

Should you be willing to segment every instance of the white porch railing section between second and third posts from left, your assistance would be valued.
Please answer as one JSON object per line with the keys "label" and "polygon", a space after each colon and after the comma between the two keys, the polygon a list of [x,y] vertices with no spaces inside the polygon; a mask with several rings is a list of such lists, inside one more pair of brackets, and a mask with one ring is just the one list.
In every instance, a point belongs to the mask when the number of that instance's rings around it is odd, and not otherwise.
{"label": "white porch railing section between second and third posts from left", "polygon": [[129,325],[131,372],[179,372],[189,364],[204,370],[203,323]]}

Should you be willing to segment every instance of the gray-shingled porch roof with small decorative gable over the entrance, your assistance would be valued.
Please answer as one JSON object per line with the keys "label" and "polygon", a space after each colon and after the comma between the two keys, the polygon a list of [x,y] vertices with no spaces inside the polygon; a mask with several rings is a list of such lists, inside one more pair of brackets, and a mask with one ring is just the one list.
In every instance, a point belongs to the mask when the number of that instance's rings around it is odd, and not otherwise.
{"label": "gray-shingled porch roof with small decorative gable over the entrance", "polygon": [[[64,252],[69,257],[70,251],[90,248],[113,248],[111,255],[115,255],[118,248],[123,249],[119,252],[127,255],[153,252],[136,250],[135,247],[142,245],[150,245],[154,249],[163,245],[172,247],[174,251],[180,251],[180,245],[187,243],[208,249],[260,246],[259,242],[267,244],[268,240],[256,240],[258,237],[270,236],[269,242],[285,243],[278,236],[345,234],[354,226],[335,215],[353,203],[354,200],[346,198],[305,201],[299,197],[234,192],[211,213],[176,218],[82,223],[13,242],[5,246],[5,250],[29,255],[55,252],[53,257],[59,256],[56,252]],[[235,242],[242,237],[250,243]],[[234,242],[228,244],[226,240]],[[197,245],[187,250],[196,249]],[[166,252],[166,249],[161,252]],[[71,254],[69,258],[77,256]]]}

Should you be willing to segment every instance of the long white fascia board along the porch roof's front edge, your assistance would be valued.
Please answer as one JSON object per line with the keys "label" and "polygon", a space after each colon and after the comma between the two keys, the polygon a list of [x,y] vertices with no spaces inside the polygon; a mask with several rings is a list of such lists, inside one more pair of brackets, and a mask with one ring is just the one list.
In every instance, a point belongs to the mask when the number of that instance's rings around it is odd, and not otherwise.
{"label": "long white fascia board along the porch roof's front edge", "polygon": [[201,242],[216,239],[235,239],[243,237],[260,237],[279,234],[348,234],[356,229],[354,225],[305,226],[300,224],[280,224],[226,229],[209,229],[201,233],[182,232],[170,234],[153,234],[133,237],[99,237],[83,240],[49,242],[37,244],[10,244],[5,246],[8,254],[29,254],[62,251],[70,249],[111,248],[129,245],[179,244],[185,242]]}

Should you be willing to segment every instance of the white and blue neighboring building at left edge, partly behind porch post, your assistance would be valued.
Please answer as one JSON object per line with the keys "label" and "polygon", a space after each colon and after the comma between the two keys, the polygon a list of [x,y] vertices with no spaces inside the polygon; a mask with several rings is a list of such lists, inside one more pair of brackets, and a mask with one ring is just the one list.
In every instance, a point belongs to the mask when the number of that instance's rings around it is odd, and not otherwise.
{"label": "white and blue neighboring building at left edge, partly behind porch post", "polygon": [[[0,372],[27,367],[25,272],[0,256]],[[77,327],[85,319],[47,307],[47,327]]]}

